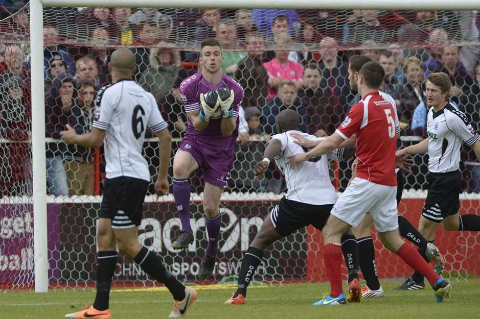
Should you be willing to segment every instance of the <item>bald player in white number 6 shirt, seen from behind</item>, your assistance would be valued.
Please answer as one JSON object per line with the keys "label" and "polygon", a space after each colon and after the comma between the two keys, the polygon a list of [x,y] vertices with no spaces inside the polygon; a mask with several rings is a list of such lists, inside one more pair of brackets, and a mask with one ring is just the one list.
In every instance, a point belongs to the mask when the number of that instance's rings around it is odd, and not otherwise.
{"label": "bald player in white number 6 shirt, seen from behind", "polygon": [[161,196],[168,193],[169,185],[171,137],[168,125],[153,95],[132,80],[135,57],[130,50],[119,48],[113,52],[108,69],[113,84],[98,92],[92,131],[77,135],[67,125],[66,131],[60,133],[67,144],[92,148],[104,143],[106,162],[97,229],[97,295],[92,307],[66,314],[65,318],[111,318],[108,300],[117,265],[117,247],[146,274],[170,290],[174,299],[170,317],[184,316],[197,292],[182,285],[138,238],[143,202],[151,180],[147,161],[142,156],[145,130],[149,127],[159,139],[160,166],[155,192]]}

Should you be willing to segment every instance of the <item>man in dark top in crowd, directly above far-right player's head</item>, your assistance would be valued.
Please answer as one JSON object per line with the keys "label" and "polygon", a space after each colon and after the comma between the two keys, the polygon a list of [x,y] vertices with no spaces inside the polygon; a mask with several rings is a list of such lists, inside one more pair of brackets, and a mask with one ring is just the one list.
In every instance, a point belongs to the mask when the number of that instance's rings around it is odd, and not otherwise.
{"label": "man in dark top in crowd, directly above far-right player's head", "polygon": [[473,84],[473,79],[468,75],[468,72],[459,60],[458,46],[444,46],[442,52],[442,68],[441,72],[447,73],[452,87],[450,89],[450,96],[453,102],[457,105],[460,103],[460,96],[470,89]]}

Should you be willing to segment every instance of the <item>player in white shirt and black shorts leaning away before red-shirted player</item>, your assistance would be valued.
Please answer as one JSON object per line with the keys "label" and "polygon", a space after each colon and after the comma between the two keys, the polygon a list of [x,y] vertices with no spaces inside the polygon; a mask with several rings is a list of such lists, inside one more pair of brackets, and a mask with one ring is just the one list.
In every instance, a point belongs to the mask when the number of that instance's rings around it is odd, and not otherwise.
{"label": "player in white shirt and black shorts leaning away before red-shirted player", "polygon": [[[330,216],[330,210],[337,200],[337,194],[328,173],[327,159],[344,160],[344,157],[351,157],[355,154],[353,148],[336,149],[327,156],[312,158],[291,168],[286,164],[287,156],[308,151],[296,144],[291,134],[301,134],[311,140],[318,138],[300,131],[300,116],[293,110],[280,112],[276,117],[276,125],[277,131],[280,133],[271,137],[265,149],[265,158],[255,165],[254,170],[256,176],[263,174],[270,161],[275,159],[277,166],[285,176],[287,194],[280,200],[279,205],[273,207],[245,253],[238,276],[238,288],[233,297],[225,302],[228,305],[245,303],[248,284],[252,281],[257,267],[262,262],[264,250],[273,242],[308,225],[322,230]],[[318,196],[318,194],[322,195]],[[344,256],[349,256],[346,258],[349,282],[358,281],[357,242],[351,232],[346,233],[344,237],[342,250]],[[356,300],[350,299],[349,301]]]}

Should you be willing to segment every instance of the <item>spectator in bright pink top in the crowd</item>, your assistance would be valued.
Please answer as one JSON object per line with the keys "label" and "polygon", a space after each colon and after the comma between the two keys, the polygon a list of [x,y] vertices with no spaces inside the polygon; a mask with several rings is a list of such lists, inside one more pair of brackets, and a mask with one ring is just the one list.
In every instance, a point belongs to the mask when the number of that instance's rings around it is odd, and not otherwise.
{"label": "spectator in bright pink top in the crowd", "polygon": [[277,43],[275,58],[265,62],[263,66],[268,72],[268,97],[271,100],[277,95],[278,89],[285,83],[290,83],[299,89],[302,86],[303,66],[300,63],[288,61],[289,48],[292,46],[291,39]]}

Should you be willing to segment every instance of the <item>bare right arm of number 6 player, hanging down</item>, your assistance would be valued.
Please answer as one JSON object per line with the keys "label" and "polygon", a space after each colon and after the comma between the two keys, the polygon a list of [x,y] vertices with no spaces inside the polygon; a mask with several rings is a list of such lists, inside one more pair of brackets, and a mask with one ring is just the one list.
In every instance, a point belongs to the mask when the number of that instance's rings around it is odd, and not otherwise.
{"label": "bare right arm of number 6 player, hanging down", "polygon": [[160,158],[155,193],[162,196],[168,194],[168,166],[172,154],[172,137],[168,129],[156,133],[155,136],[158,138],[158,156]]}

